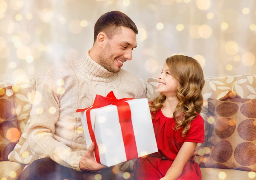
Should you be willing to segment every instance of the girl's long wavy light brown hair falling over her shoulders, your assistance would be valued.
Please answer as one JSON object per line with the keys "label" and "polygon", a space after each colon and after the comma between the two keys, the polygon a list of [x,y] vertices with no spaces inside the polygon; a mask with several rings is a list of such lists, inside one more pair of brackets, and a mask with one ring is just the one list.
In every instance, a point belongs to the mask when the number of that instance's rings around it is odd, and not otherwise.
{"label": "girl's long wavy light brown hair falling over her shoulders", "polygon": [[[181,135],[185,137],[190,123],[200,114],[204,98],[202,89],[204,87],[204,73],[197,60],[183,55],[174,55],[166,59],[166,64],[171,75],[178,81],[176,99],[178,104],[173,113],[175,119],[175,130],[182,128]],[[154,117],[166,100],[166,96],[160,94],[154,98],[149,105]]]}

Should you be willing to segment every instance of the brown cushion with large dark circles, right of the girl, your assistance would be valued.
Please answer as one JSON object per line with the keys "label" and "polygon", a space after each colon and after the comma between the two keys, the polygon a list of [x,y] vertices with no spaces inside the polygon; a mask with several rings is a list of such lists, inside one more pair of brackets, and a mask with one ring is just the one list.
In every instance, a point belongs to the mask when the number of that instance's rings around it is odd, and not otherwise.
{"label": "brown cushion with large dark circles, right of the girl", "polygon": [[201,167],[256,171],[256,100],[208,100],[209,140]]}

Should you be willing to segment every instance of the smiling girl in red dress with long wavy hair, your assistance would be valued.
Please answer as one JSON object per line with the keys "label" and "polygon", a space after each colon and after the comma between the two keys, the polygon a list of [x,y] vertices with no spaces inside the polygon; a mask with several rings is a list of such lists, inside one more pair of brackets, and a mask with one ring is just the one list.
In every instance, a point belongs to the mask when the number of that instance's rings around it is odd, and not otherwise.
{"label": "smiling girl in red dress with long wavy hair", "polygon": [[149,103],[158,152],[134,163],[137,180],[201,180],[191,154],[204,142],[203,70],[192,57],[167,58],[158,76],[159,97]]}

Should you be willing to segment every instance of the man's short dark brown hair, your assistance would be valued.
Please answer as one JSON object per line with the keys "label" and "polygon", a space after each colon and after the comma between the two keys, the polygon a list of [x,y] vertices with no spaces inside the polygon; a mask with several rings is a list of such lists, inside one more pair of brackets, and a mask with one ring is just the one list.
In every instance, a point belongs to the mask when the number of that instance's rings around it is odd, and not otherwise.
{"label": "man's short dark brown hair", "polygon": [[125,13],[120,11],[110,11],[102,14],[94,25],[94,43],[100,32],[105,32],[108,38],[112,38],[119,30],[118,27],[124,26],[138,34],[138,29],[135,23]]}

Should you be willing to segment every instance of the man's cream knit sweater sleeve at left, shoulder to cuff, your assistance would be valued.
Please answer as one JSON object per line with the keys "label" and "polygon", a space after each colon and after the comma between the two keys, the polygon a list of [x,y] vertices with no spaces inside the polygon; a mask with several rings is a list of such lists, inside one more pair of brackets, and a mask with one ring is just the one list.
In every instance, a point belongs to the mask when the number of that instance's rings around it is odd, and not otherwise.
{"label": "man's cream knit sweater sleeve at left, shoulder to cuff", "polygon": [[53,137],[58,118],[57,95],[44,82],[39,83],[27,129],[29,147],[41,157],[49,157],[62,166],[81,171],[81,155]]}

